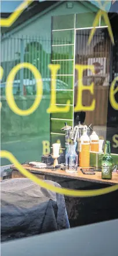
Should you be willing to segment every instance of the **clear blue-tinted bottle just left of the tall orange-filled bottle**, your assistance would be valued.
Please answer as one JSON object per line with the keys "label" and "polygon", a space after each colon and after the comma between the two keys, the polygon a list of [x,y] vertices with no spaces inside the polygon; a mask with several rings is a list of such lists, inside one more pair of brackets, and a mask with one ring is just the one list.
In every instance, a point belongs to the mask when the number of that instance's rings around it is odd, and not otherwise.
{"label": "clear blue-tinted bottle just left of the tall orange-filled bottle", "polygon": [[66,171],[69,173],[75,173],[78,171],[78,155],[75,152],[75,144],[71,139],[69,143],[69,150],[65,156]]}

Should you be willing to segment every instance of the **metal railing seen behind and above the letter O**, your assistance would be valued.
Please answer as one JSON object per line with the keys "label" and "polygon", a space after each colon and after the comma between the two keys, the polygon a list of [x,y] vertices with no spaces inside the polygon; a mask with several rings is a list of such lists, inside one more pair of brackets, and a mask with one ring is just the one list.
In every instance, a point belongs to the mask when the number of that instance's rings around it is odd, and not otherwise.
{"label": "metal railing seen behind and above the letter O", "polygon": [[[42,77],[49,77],[51,41],[40,37],[9,37],[1,41],[1,66],[4,69],[2,82],[6,81],[11,69],[21,62],[29,62],[38,68]],[[24,79],[32,79],[33,75],[28,69],[24,69]],[[16,75],[20,79],[20,71]]]}

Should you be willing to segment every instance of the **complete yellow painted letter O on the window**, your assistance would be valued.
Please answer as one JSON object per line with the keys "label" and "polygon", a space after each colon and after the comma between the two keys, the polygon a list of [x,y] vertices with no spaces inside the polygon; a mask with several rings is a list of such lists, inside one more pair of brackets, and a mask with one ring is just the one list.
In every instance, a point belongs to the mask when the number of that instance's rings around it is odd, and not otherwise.
{"label": "complete yellow painted letter O on the window", "polygon": [[[13,96],[13,80],[16,76],[16,73],[21,69],[21,68],[28,68],[34,75],[36,79],[36,97],[35,101],[32,104],[31,107],[29,107],[27,110],[21,110],[19,107],[17,107],[16,102],[14,101],[14,96]],[[20,64],[17,64],[14,66],[14,68],[10,71],[8,78],[6,80],[6,101],[8,102],[9,107],[11,110],[16,113],[17,115],[30,115],[32,114],[36,108],[38,108],[40,101],[42,99],[42,93],[43,93],[43,86],[42,86],[42,77],[38,71],[38,69],[27,62],[23,62]]]}

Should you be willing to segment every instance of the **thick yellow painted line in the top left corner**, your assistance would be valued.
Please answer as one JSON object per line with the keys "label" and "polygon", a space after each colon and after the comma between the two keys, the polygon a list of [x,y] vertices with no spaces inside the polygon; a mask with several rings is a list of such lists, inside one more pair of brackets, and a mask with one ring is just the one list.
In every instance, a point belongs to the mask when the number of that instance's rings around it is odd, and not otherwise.
{"label": "thick yellow painted line in the top left corner", "polygon": [[15,20],[21,15],[26,7],[28,7],[34,0],[24,0],[23,3],[19,5],[16,10],[6,19],[1,19],[1,27],[10,27],[15,22]]}

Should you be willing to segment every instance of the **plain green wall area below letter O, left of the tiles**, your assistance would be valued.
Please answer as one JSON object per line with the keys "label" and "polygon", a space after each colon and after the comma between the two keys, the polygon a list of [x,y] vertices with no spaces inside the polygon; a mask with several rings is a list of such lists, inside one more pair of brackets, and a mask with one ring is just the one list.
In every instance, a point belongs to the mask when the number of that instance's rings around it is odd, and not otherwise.
{"label": "plain green wall area below letter O, left of the tiles", "polygon": [[[24,100],[18,98],[15,99],[16,104],[22,109],[34,102],[34,97],[30,99],[28,96]],[[50,138],[50,114],[46,113],[50,99],[44,97],[38,109],[27,117],[14,114],[6,100],[1,101],[1,150],[10,151],[21,163],[39,161],[42,141],[49,141]],[[1,159],[1,165],[5,164],[9,164],[8,160]]]}

